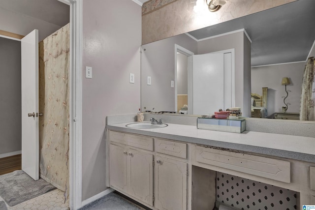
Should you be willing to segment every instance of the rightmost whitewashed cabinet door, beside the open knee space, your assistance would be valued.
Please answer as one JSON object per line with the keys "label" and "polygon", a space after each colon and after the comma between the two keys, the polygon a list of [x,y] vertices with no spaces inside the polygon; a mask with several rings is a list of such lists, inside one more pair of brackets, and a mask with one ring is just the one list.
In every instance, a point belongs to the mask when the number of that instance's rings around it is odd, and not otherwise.
{"label": "rightmost whitewashed cabinet door, beside the open knee space", "polygon": [[187,163],[156,156],[155,207],[159,210],[187,209]]}

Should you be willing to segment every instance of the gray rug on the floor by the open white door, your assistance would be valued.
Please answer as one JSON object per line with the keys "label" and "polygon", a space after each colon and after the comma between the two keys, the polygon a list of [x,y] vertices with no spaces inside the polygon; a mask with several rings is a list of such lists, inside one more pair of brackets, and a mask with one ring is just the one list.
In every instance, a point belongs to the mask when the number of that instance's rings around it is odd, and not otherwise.
{"label": "gray rug on the floor by the open white door", "polygon": [[0,197],[10,207],[55,189],[43,179],[34,181],[22,170],[0,176]]}

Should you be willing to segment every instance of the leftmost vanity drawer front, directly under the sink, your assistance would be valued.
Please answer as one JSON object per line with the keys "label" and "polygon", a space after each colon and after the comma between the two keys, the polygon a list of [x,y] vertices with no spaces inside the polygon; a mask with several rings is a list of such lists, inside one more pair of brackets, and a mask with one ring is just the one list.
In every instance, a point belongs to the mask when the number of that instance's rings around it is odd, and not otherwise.
{"label": "leftmost vanity drawer front, directly under the sink", "polygon": [[109,131],[109,140],[131,147],[153,151],[153,138],[150,137]]}

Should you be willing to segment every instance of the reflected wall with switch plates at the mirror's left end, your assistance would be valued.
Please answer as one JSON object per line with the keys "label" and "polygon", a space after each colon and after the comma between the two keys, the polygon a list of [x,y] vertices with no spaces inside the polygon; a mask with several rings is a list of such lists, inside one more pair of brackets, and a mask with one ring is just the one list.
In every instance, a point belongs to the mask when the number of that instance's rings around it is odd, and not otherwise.
{"label": "reflected wall with switch plates at the mirror's left end", "polygon": [[[171,88],[171,80],[175,80],[175,44],[197,52],[196,41],[186,34],[142,45],[141,111],[177,111],[175,89]],[[151,76],[151,86],[147,85],[147,76]]]}

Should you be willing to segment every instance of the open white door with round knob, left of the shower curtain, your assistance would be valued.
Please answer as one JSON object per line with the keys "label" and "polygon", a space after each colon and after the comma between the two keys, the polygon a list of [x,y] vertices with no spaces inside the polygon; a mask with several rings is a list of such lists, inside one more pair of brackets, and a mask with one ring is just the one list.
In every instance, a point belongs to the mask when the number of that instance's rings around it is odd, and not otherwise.
{"label": "open white door with round knob, left of the shower curtain", "polygon": [[22,170],[39,178],[38,30],[21,39]]}

